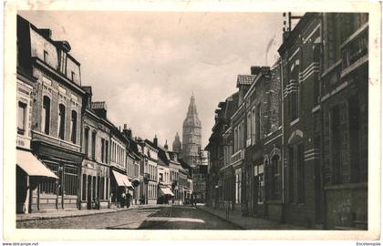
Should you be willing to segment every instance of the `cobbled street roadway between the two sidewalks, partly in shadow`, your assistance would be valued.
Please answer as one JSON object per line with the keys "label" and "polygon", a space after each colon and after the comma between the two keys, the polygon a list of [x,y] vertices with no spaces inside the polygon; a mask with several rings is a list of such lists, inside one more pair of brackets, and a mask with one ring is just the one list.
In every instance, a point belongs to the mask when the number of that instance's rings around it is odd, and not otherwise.
{"label": "cobbled street roadway between the two sidewalks, partly in shadow", "polygon": [[16,223],[30,229],[236,230],[232,224],[191,206],[124,210],[113,213]]}

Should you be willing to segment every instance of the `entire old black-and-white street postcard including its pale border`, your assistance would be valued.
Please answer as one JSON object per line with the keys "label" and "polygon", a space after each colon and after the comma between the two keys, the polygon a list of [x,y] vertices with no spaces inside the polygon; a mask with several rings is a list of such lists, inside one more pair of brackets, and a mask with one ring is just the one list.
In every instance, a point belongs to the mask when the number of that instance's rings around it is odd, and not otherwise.
{"label": "entire old black-and-white street postcard including its pale border", "polygon": [[11,225],[378,240],[378,5],[17,9]]}

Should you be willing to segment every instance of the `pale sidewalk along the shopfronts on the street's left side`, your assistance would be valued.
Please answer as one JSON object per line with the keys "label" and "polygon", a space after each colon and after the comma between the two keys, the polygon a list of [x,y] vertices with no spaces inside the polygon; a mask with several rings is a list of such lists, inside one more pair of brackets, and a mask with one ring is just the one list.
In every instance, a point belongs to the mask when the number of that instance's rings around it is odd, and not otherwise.
{"label": "pale sidewalk along the shopfronts on the street's left side", "polygon": [[151,209],[158,208],[160,206],[167,206],[163,204],[155,205],[131,205],[129,208],[111,208],[111,209],[101,209],[101,210],[47,210],[43,212],[33,212],[28,214],[16,214],[16,222],[27,221],[27,220],[50,220],[58,218],[70,218],[70,217],[80,217],[88,216],[93,214],[101,213],[111,213],[118,212],[123,210],[142,210],[142,209]]}

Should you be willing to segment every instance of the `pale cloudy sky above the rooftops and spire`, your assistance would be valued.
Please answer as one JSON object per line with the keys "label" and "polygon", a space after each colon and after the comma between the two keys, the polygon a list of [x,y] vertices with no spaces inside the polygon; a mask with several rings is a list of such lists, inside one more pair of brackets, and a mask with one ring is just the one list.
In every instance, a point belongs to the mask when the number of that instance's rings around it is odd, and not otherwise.
{"label": "pale cloudy sky above the rooftops and spire", "polygon": [[[169,145],[186,117],[191,93],[202,121],[202,148],[220,101],[236,76],[272,66],[282,40],[281,13],[19,12],[67,40],[81,63],[82,85],[106,101],[108,118],[134,136],[156,134]],[[274,38],[268,53],[266,47]]]}

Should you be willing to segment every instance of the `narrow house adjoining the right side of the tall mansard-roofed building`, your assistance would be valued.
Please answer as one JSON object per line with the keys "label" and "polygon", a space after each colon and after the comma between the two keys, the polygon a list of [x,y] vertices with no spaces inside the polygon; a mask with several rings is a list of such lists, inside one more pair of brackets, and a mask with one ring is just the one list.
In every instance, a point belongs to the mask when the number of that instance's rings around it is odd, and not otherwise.
{"label": "narrow house adjoining the right side of the tall mansard-roofed building", "polygon": [[110,132],[113,124],[107,118],[105,102],[92,102],[92,88],[83,87],[84,123],[80,179],[80,208],[102,209],[109,207]]}

